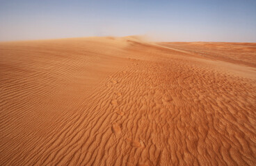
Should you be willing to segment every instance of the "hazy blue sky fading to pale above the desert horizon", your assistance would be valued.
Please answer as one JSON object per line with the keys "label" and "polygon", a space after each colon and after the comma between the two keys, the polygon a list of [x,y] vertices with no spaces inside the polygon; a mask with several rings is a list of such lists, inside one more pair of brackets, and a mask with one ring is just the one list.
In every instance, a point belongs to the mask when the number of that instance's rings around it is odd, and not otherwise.
{"label": "hazy blue sky fading to pale above the desert horizon", "polygon": [[0,41],[128,35],[256,42],[256,0],[0,0]]}

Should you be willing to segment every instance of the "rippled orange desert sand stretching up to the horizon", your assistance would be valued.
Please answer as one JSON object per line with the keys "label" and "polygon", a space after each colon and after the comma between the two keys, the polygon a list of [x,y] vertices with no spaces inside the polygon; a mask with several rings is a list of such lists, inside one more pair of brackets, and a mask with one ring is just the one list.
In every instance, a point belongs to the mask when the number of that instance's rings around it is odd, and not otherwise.
{"label": "rippled orange desert sand stretching up to the horizon", "polygon": [[256,165],[255,44],[0,44],[0,165]]}

